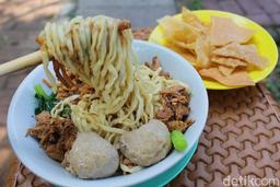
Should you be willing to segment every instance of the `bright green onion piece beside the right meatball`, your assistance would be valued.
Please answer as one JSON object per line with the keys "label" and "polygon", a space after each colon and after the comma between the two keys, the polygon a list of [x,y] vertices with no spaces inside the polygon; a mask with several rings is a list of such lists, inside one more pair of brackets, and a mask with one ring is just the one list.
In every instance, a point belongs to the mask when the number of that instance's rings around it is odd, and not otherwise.
{"label": "bright green onion piece beside the right meatball", "polygon": [[184,135],[179,130],[173,130],[171,132],[171,141],[175,150],[179,152],[185,151],[188,145],[187,140],[185,139]]}

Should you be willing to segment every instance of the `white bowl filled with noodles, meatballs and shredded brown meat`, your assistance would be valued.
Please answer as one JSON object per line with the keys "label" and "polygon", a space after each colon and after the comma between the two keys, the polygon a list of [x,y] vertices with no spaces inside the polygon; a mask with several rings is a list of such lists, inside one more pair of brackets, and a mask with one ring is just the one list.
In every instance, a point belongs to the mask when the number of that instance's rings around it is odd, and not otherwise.
{"label": "white bowl filled with noodles, meatballs and shredded brown meat", "polygon": [[59,186],[140,185],[199,140],[207,91],[179,55],[135,40],[126,23],[106,16],[48,23],[37,42],[43,65],[18,87],[8,133],[39,177]]}

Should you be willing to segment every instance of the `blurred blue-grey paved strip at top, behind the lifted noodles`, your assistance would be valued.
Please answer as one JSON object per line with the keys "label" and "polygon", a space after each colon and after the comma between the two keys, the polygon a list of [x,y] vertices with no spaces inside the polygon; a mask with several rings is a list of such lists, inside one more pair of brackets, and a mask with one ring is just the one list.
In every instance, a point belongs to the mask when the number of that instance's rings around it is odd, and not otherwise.
{"label": "blurred blue-grey paved strip at top, behind the lifted noodles", "polygon": [[77,10],[77,14],[83,16],[105,14],[128,19],[132,27],[155,26],[158,19],[175,13],[174,0],[80,0]]}

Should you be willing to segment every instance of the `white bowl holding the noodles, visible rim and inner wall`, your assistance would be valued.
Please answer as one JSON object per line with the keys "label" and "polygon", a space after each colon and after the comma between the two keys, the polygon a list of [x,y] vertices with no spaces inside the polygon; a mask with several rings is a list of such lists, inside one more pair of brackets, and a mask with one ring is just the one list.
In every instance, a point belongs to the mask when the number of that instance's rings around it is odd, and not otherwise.
{"label": "white bowl holding the noodles, visible rim and inner wall", "polygon": [[168,71],[174,79],[188,84],[191,89],[191,113],[189,117],[195,119],[196,122],[185,132],[188,141],[188,148],[185,152],[178,153],[173,151],[163,161],[126,176],[88,180],[72,176],[59,163],[48,157],[36,140],[26,137],[27,129],[35,125],[34,85],[42,83],[42,79],[45,78],[43,66],[38,66],[24,79],[16,90],[8,113],[10,142],[18,157],[26,167],[42,178],[59,186],[122,187],[137,185],[155,177],[174,166],[188,153],[189,149],[198,141],[208,115],[208,95],[201,78],[190,63],[167,48],[141,40],[135,40],[133,48],[141,62],[151,61],[152,57],[158,56],[164,70]]}

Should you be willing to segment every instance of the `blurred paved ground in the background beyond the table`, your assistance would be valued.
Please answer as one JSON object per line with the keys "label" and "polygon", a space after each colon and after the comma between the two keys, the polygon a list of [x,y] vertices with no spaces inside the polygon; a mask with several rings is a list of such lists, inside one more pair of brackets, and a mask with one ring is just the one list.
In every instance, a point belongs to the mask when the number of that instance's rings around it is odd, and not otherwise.
{"label": "blurred paved ground in the background beyond the table", "polygon": [[[35,38],[47,21],[105,14],[128,19],[133,28],[153,27],[158,19],[179,12],[182,5],[245,15],[261,24],[280,44],[280,0],[0,0],[0,63],[36,50]],[[32,69],[0,77],[0,187],[4,186],[14,157],[7,137],[8,107],[15,89]],[[279,80],[278,65],[265,80],[278,101]]]}

